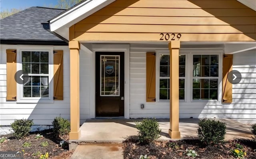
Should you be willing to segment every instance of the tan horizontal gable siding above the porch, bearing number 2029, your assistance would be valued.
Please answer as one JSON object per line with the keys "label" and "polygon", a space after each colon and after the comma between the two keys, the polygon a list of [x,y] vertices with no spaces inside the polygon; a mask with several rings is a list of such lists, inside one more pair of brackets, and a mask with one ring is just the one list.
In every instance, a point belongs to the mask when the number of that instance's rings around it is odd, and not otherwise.
{"label": "tan horizontal gable siding above the porch, bearing number 2029", "polygon": [[236,0],[116,0],[70,27],[70,40],[162,41],[160,33],[255,41],[256,12]]}

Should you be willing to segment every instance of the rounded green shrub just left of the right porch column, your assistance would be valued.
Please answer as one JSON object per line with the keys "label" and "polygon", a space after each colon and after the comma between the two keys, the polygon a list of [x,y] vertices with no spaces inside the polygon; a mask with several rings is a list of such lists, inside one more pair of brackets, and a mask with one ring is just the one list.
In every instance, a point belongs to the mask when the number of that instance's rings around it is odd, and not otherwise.
{"label": "rounded green shrub just left of the right porch column", "polygon": [[161,129],[156,119],[143,119],[136,122],[138,137],[141,144],[149,144],[160,137]]}

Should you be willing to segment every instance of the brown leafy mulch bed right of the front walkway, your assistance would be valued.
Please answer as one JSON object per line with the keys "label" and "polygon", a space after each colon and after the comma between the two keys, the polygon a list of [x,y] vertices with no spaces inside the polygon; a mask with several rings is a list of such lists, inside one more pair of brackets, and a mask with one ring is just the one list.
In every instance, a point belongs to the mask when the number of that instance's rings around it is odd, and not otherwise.
{"label": "brown leafy mulch bed right of the front walkway", "polygon": [[155,141],[149,145],[140,145],[134,138],[123,142],[124,159],[138,159],[140,155],[147,155],[150,159],[192,159],[187,156],[186,149],[196,151],[196,159],[236,159],[231,153],[232,149],[237,149],[236,143],[242,145],[243,151],[247,153],[245,159],[256,159],[256,143],[250,140],[225,141],[208,146],[198,139]]}

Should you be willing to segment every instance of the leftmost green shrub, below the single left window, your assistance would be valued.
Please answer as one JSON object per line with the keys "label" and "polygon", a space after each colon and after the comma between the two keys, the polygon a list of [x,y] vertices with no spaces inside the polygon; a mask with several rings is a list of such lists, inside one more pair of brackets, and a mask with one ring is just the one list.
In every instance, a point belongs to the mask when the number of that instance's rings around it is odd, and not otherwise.
{"label": "leftmost green shrub, below the single left window", "polygon": [[11,123],[11,127],[14,131],[13,136],[17,139],[25,137],[31,130],[32,125],[34,125],[34,122],[29,119],[14,120],[14,122]]}

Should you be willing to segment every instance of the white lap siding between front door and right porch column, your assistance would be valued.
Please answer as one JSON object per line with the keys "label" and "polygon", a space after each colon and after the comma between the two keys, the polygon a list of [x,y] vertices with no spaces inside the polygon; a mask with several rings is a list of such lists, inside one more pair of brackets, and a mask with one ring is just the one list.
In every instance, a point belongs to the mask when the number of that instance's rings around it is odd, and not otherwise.
{"label": "white lap siding between front door and right porch column", "polygon": [[[131,44],[130,117],[169,118],[169,103],[146,102],[146,52],[167,50],[167,45]],[[140,104],[144,104],[144,109]]]}

